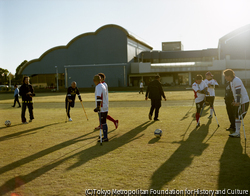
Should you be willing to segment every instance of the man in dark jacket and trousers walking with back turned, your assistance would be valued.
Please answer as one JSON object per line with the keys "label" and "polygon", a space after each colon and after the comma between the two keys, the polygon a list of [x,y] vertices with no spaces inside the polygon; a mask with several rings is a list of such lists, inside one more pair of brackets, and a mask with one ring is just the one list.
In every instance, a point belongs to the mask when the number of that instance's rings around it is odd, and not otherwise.
{"label": "man in dark jacket and trousers walking with back turned", "polygon": [[162,99],[161,97],[163,97],[165,101],[167,100],[160,83],[160,76],[157,75],[155,76],[155,80],[149,83],[145,96],[145,100],[148,100],[148,98],[151,99],[151,108],[148,115],[149,120],[152,120],[152,115],[154,110],[155,110],[154,120],[155,121],[159,120],[158,115],[161,107],[161,99]]}

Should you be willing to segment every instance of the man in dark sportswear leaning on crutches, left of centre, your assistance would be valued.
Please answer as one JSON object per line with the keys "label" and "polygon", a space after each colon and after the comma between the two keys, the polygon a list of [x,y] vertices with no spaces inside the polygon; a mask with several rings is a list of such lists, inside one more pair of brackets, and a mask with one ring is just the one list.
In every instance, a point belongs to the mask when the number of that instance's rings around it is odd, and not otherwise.
{"label": "man in dark sportswear leaning on crutches, left of centre", "polygon": [[67,115],[69,117],[69,121],[72,121],[72,119],[70,118],[70,107],[73,108],[75,106],[76,94],[78,95],[79,100],[82,102],[80,92],[78,88],[76,87],[76,82],[74,81],[71,83],[71,86],[68,88],[67,96],[65,98],[65,108],[66,108]]}

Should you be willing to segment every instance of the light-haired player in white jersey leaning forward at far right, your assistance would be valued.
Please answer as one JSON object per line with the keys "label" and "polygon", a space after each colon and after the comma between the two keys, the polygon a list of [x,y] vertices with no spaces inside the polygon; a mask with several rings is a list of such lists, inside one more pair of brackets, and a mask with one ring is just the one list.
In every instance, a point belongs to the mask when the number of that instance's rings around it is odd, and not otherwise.
{"label": "light-haired player in white jersey leaning forward at far right", "polygon": [[249,107],[249,97],[240,78],[235,76],[232,69],[223,71],[226,81],[230,82],[234,100],[231,103],[235,111],[235,132],[230,137],[240,137],[241,120],[246,116]]}

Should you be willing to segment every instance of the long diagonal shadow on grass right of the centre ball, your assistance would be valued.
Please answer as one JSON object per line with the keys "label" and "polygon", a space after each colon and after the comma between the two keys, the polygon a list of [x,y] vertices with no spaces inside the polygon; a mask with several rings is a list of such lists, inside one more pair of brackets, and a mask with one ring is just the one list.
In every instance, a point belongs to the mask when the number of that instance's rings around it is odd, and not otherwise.
{"label": "long diagonal shadow on grass right of the centre ball", "polygon": [[180,147],[152,175],[150,189],[160,190],[165,184],[191,165],[195,156],[201,156],[208,147],[203,141],[207,137],[211,119],[206,125],[194,129],[187,140],[180,142]]}

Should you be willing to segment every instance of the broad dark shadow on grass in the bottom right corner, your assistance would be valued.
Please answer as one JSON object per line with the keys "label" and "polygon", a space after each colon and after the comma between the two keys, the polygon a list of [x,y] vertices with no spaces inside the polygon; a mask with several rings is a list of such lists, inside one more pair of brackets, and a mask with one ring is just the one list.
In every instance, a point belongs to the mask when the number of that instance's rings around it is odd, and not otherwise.
{"label": "broad dark shadow on grass in the bottom right corner", "polygon": [[218,189],[250,190],[250,157],[240,138],[229,137],[220,158]]}

